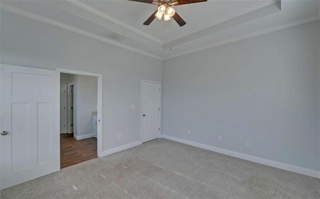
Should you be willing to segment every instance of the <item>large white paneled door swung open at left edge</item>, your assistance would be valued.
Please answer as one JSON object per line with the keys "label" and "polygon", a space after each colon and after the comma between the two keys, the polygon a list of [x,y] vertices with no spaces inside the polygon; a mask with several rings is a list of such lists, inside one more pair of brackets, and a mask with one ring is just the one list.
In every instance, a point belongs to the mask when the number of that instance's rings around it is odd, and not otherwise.
{"label": "large white paneled door swung open at left edge", "polygon": [[59,76],[1,64],[0,189],[60,170]]}

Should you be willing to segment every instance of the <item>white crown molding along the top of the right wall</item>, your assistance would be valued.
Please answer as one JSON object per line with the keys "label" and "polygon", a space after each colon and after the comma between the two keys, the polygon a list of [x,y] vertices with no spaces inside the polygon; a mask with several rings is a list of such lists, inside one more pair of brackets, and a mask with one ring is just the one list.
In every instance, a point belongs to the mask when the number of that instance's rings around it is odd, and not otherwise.
{"label": "white crown molding along the top of the right wall", "polygon": [[234,41],[247,39],[247,38],[250,38],[250,37],[254,37],[254,36],[258,36],[258,35],[274,32],[274,31],[277,31],[277,30],[281,30],[281,29],[285,29],[285,28],[288,28],[288,27],[300,25],[300,24],[303,24],[303,23],[308,23],[308,22],[311,22],[311,21],[319,20],[319,19],[320,19],[320,14],[318,16],[315,16],[315,17],[310,17],[310,18],[302,19],[302,20],[299,20],[299,21],[296,21],[296,22],[287,23],[287,24],[283,24],[283,25],[273,26],[273,27],[264,29],[262,31],[257,31],[257,32],[253,32],[253,33],[244,34],[243,36],[240,36],[240,37],[234,37],[232,39],[227,39],[227,40],[224,40],[224,41],[221,41],[221,42],[217,42],[217,43],[213,43],[213,44],[210,44],[210,45],[207,45],[207,46],[203,46],[203,47],[200,47],[200,48],[195,48],[195,49],[192,49],[192,50],[181,52],[181,53],[178,53],[178,54],[175,54],[175,55],[172,55],[172,56],[167,56],[165,58],[162,58],[162,60],[171,59],[171,58],[174,58],[174,57],[178,57],[178,56],[190,54],[190,53],[193,53],[193,52],[197,52],[197,51],[213,48],[213,47],[216,47],[216,46],[219,46],[219,45],[224,45],[224,44],[231,43],[231,42],[234,42]]}

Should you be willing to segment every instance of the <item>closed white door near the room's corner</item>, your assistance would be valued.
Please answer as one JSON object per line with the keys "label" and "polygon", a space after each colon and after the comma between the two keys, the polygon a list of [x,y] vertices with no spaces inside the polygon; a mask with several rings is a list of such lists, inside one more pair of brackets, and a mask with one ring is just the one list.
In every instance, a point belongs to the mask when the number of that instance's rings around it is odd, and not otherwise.
{"label": "closed white door near the room's corner", "polygon": [[142,143],[160,137],[160,83],[142,81]]}

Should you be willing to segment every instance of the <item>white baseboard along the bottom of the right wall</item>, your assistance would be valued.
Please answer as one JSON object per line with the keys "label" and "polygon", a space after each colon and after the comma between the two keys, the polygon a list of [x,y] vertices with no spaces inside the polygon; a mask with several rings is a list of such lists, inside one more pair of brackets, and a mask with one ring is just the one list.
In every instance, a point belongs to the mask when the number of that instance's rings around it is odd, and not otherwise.
{"label": "white baseboard along the bottom of the right wall", "polygon": [[280,163],[280,162],[277,162],[277,161],[268,160],[268,159],[264,159],[264,158],[259,158],[259,157],[255,157],[255,156],[250,156],[250,155],[246,155],[246,154],[242,154],[242,153],[238,153],[238,152],[234,152],[234,151],[229,151],[229,150],[226,150],[226,149],[212,147],[212,146],[209,146],[209,145],[205,145],[205,144],[201,144],[201,143],[197,143],[197,142],[192,142],[192,141],[188,141],[188,140],[183,140],[181,138],[176,138],[176,137],[172,137],[172,136],[168,136],[168,135],[164,135],[164,134],[161,134],[161,138],[165,138],[165,139],[168,139],[168,140],[172,140],[172,141],[175,141],[175,142],[180,142],[180,143],[191,145],[191,146],[198,147],[198,148],[201,148],[201,149],[206,149],[206,150],[217,152],[217,153],[220,153],[220,154],[224,154],[224,155],[228,155],[228,156],[232,156],[232,157],[248,160],[248,161],[251,161],[251,162],[267,165],[267,166],[270,166],[270,167],[275,167],[275,168],[278,168],[278,169],[283,169],[283,170],[286,170],[286,171],[295,172],[295,173],[298,173],[298,174],[311,176],[311,177],[320,179],[320,172],[315,171],[315,170],[306,169],[306,168],[303,168],[303,167],[298,167],[298,166],[289,165],[289,164],[285,164],[285,163]]}

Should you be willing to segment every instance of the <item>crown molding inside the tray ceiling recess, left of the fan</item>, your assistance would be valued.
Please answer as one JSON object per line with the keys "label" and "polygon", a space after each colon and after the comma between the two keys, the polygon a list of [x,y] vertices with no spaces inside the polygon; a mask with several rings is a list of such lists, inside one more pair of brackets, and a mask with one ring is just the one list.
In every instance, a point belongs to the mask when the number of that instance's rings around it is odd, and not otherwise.
{"label": "crown molding inside the tray ceiling recess, left of the fan", "polygon": [[120,26],[122,26],[122,27],[124,27],[126,29],[129,29],[129,30],[131,30],[131,31],[133,31],[133,32],[145,37],[145,38],[148,38],[148,39],[150,39],[152,41],[155,41],[155,42],[157,42],[157,43],[159,43],[161,45],[163,44],[163,42],[160,39],[157,39],[157,38],[155,38],[154,36],[152,36],[150,34],[147,34],[147,33],[143,32],[143,31],[141,31],[141,30],[139,30],[139,29],[137,29],[135,27],[132,27],[131,25],[126,24],[126,23],[114,18],[113,16],[110,16],[110,15],[106,14],[105,12],[102,12],[102,11],[100,11],[100,10],[94,8],[94,7],[91,7],[90,5],[85,4],[85,3],[83,3],[83,2],[81,2],[79,0],[65,0],[65,1],[67,1],[69,3],[72,3],[72,4],[74,4],[74,5],[78,6],[78,7],[81,7],[82,9],[85,9],[85,10],[87,10],[87,11],[93,13],[93,14],[96,14],[96,15],[102,17],[102,18],[105,18],[105,19],[107,19],[107,20],[109,20],[109,21],[111,21],[111,22],[113,22],[115,24],[118,24],[118,25],[120,25]]}

